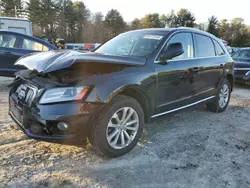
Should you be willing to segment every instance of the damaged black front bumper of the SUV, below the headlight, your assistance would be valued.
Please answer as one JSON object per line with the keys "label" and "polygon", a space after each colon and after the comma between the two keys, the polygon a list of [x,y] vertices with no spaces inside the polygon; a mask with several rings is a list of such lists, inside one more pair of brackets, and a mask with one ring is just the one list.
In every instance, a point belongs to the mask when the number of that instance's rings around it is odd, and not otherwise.
{"label": "damaged black front bumper of the SUV, below the headlight", "polygon": [[[40,105],[20,100],[12,88],[9,94],[9,115],[30,138],[58,142],[81,142],[88,136],[93,119],[103,104],[65,102]],[[34,100],[33,97],[31,97]],[[66,123],[68,130],[60,130],[58,123]]]}

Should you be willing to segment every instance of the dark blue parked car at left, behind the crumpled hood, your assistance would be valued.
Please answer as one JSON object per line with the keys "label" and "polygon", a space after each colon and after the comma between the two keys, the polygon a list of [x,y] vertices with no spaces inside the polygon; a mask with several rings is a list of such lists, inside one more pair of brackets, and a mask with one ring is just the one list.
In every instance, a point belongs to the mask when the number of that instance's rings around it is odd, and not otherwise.
{"label": "dark blue parked car at left, behind the crumpled hood", "polygon": [[0,76],[13,77],[23,69],[14,66],[17,59],[33,52],[56,50],[57,48],[38,38],[12,31],[0,31]]}

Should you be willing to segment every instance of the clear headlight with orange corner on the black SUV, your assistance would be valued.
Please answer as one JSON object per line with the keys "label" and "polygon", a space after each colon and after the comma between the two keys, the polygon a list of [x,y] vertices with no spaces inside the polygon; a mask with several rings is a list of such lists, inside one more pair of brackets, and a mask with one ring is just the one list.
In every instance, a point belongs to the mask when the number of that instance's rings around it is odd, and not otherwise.
{"label": "clear headlight with orange corner on the black SUV", "polygon": [[62,87],[47,89],[40,99],[40,104],[82,100],[88,87]]}

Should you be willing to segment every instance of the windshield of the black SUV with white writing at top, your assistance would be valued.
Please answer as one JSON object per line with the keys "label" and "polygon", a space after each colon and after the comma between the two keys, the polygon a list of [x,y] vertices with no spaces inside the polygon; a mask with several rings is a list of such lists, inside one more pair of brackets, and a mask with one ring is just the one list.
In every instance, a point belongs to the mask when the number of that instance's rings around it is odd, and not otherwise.
{"label": "windshield of the black SUV with white writing at top", "polygon": [[109,55],[147,57],[159,46],[164,35],[162,32],[139,31],[120,34],[103,44],[96,52]]}

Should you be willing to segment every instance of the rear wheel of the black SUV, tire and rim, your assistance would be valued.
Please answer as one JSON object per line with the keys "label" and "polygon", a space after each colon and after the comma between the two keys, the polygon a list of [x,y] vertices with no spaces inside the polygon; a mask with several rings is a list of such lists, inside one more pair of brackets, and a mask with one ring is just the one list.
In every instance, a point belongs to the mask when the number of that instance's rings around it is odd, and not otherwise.
{"label": "rear wheel of the black SUV, tire and rim", "polygon": [[215,113],[225,111],[230,101],[231,88],[230,82],[224,79],[218,88],[215,101],[206,104],[207,109]]}

